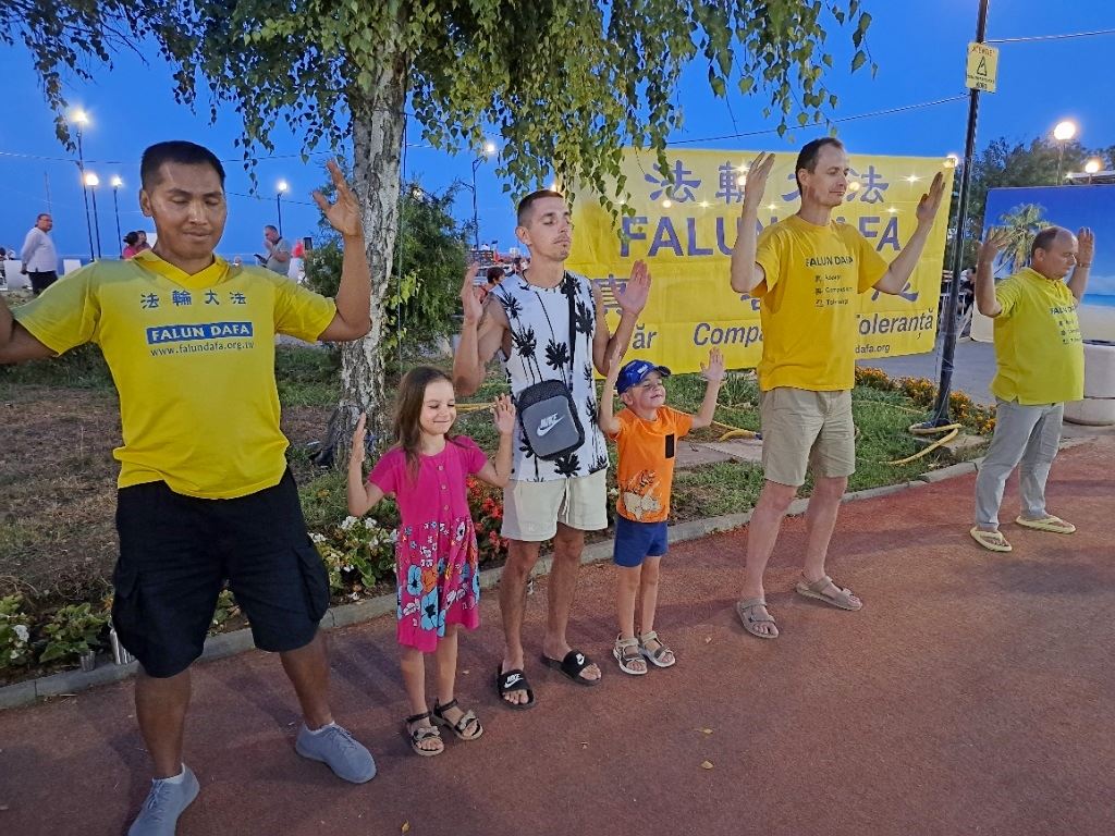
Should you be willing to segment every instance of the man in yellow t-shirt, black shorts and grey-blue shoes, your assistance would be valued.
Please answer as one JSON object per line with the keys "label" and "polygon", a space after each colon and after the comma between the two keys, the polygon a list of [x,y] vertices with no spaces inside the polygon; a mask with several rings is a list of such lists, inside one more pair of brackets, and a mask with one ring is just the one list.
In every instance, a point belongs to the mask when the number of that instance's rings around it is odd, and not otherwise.
{"label": "man in yellow t-shirt, black shorts and grey-blue shoes", "polygon": [[29,304],[0,299],[0,362],[100,347],[120,398],[124,444],[113,623],[140,662],[136,717],[155,766],[130,836],[171,833],[198,791],[182,761],[190,665],[225,581],[256,647],[282,655],[304,717],[297,751],[362,782],[368,750],[332,721],[318,623],[329,582],[307,535],[279,429],[274,338],[355,340],[369,328],[369,271],[357,201],[336,164],[332,205],[345,241],[336,302],[214,255],[227,204],[224,168],[187,142],[153,145],[139,205],[154,250],[95,262]]}

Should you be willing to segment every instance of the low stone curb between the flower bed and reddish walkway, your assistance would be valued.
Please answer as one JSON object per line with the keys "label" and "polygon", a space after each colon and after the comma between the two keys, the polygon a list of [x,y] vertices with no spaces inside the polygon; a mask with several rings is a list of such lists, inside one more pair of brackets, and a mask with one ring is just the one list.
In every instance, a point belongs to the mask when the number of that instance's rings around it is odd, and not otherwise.
{"label": "low stone curb between the flower bed and reddish walkway", "polygon": [[[1089,439],[1068,439],[1073,444],[1061,444],[1063,447],[1075,447]],[[903,482],[898,485],[884,485],[882,487],[867,488],[845,494],[842,502],[860,502],[862,499],[873,499],[880,496],[890,496],[903,490],[923,487],[929,483],[943,482],[957,476],[964,476],[976,472],[976,461],[963,461],[959,465],[930,470],[918,476],[912,482]],[[795,499],[786,512],[787,516],[799,516],[808,507],[808,499]],[[725,514],[717,517],[704,519],[692,519],[688,523],[678,523],[669,527],[669,542],[683,543],[690,539],[698,539],[710,534],[734,531],[741,528],[750,522],[752,512],[741,514]],[[610,560],[612,556],[612,541],[605,539],[598,543],[590,543],[584,547],[581,555],[582,564],[600,563]],[[539,558],[531,572],[531,577],[541,577],[550,573],[553,558],[544,555]],[[500,582],[502,567],[481,570],[481,589],[494,589]],[[395,610],[396,600],[394,595],[379,595],[377,597],[359,601],[352,604],[339,604],[331,606],[321,620],[321,626],[326,630],[349,626],[363,621],[386,615]],[[250,629],[234,630],[231,633],[221,633],[205,639],[205,649],[202,651],[202,660],[224,659],[254,649],[252,631]],[[49,677],[16,682],[14,684],[0,688],[0,711],[8,708],[28,706],[43,697],[71,696],[79,691],[86,691],[97,686],[112,684],[129,679],[139,670],[138,662],[129,664],[101,664],[91,671],[64,671]]]}

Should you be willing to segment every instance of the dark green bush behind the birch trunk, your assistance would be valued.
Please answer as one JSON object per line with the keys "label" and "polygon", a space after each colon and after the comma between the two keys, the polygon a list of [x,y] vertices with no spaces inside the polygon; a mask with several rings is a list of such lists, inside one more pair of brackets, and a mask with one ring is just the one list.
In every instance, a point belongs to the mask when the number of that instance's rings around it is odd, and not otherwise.
{"label": "dark green bush behind the birch trunk", "polygon": [[[409,183],[399,198],[399,233],[394,281],[384,300],[381,357],[400,343],[430,346],[455,333],[457,295],[465,271],[462,227],[453,217],[456,188],[442,195]],[[307,253],[306,283],[322,295],[333,297],[340,285],[343,253],[336,234],[327,234],[323,246]]]}

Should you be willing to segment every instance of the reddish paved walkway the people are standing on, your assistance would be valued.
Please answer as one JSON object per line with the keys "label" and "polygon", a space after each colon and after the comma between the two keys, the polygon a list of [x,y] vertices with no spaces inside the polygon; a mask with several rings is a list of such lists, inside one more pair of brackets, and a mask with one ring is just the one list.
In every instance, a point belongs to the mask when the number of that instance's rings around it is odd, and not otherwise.
{"label": "reddish paved walkway the people are standing on", "polygon": [[[804,546],[789,521],[769,573],[783,635],[731,610],[738,532],[681,544],[659,629],[679,663],[641,679],[609,658],[612,571],[585,567],[571,633],[599,689],[527,665],[530,712],[497,706],[498,615],[463,641],[459,696],[487,725],[413,756],[381,619],[332,634],[338,718],[375,751],[361,787],[292,751],[299,722],[277,660],[198,665],[187,760],[202,795],[180,834],[772,834],[1099,836],[1115,827],[1115,439],[1063,453],[1051,508],[1072,537],[1007,525],[1012,555],[968,538],[972,477],[845,506],[831,571],[846,613],[788,592]],[[1007,508],[1017,500],[1008,494]],[[542,584],[540,584],[540,587]],[[545,596],[530,601],[529,647]],[[130,686],[0,712],[0,833],[112,834],[147,787]],[[702,768],[702,764],[711,768]]]}

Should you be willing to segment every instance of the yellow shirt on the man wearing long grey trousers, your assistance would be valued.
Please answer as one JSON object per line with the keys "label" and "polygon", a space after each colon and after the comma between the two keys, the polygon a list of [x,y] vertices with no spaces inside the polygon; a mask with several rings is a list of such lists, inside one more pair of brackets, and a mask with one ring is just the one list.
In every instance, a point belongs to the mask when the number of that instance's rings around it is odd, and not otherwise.
{"label": "yellow shirt on the man wearing long grey trousers", "polygon": [[1002,305],[995,318],[995,397],[1030,406],[1083,398],[1084,343],[1068,285],[1025,268],[999,282],[995,298]]}

